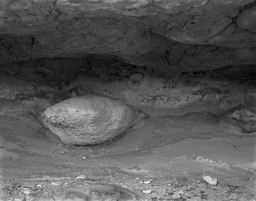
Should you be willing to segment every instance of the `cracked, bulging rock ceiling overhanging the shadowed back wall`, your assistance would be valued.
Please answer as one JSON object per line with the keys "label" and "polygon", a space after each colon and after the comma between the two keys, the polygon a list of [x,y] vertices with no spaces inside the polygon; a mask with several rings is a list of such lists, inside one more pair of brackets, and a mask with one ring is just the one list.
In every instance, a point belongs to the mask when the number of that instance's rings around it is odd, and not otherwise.
{"label": "cracked, bulging rock ceiling overhanging the shadowed back wall", "polygon": [[256,1],[0,1],[3,69],[66,57],[179,72],[256,65]]}

